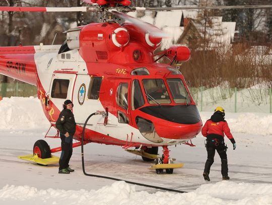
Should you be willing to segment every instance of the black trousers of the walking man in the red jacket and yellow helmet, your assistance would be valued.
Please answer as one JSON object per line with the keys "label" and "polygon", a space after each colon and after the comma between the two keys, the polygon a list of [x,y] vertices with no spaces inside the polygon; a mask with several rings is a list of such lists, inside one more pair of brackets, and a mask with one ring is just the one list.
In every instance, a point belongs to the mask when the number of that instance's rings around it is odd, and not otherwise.
{"label": "black trousers of the walking man in the red jacket and yellow helmet", "polygon": [[228,176],[227,147],[225,146],[224,141],[207,140],[208,159],[205,163],[204,172],[210,174],[211,166],[214,163],[215,151],[218,152],[221,158],[222,176]]}

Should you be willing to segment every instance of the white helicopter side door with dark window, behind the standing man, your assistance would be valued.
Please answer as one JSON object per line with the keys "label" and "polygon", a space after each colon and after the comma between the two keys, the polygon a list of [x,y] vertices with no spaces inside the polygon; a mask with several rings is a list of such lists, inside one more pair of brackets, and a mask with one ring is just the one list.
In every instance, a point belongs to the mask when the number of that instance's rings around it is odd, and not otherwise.
{"label": "white helicopter side door with dark window, behind the standing man", "polygon": [[63,102],[67,99],[73,101],[73,88],[75,84],[76,74],[62,74],[54,73],[52,76],[50,89],[49,89],[49,102],[48,114],[50,121],[56,121],[58,114],[54,109],[62,110]]}

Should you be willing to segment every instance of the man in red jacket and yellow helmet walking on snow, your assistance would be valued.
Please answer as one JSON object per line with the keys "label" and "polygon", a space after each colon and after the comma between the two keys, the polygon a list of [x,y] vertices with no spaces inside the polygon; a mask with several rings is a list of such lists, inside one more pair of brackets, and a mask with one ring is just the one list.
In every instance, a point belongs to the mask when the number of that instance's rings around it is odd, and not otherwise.
{"label": "man in red jacket and yellow helmet walking on snow", "polygon": [[221,158],[221,173],[223,180],[229,180],[228,176],[228,160],[227,160],[227,146],[224,143],[224,133],[233,144],[233,150],[236,149],[235,140],[230,132],[227,121],[224,118],[225,110],[222,107],[217,107],[215,113],[208,119],[202,127],[202,135],[207,138],[206,148],[208,159],[205,164],[203,177],[206,181],[210,181],[210,169],[214,163],[215,151],[218,152]]}

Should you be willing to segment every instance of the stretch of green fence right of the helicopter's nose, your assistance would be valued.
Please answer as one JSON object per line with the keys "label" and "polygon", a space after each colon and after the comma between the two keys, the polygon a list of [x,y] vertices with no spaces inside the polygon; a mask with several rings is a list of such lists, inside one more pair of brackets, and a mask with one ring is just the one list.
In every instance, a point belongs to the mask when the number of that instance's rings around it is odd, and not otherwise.
{"label": "stretch of green fence right of the helicopter's nose", "polygon": [[199,111],[222,106],[228,112],[272,113],[272,89],[190,88]]}

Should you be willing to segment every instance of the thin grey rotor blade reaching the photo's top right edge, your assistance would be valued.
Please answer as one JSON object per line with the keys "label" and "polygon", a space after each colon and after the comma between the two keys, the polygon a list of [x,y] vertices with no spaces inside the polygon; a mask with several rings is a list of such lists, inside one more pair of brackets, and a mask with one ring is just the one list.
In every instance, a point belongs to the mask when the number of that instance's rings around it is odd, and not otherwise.
{"label": "thin grey rotor blade reaching the photo's top right edge", "polygon": [[272,5],[244,5],[244,6],[216,6],[216,7],[198,7],[198,6],[184,6],[184,7],[164,7],[164,8],[145,8],[135,7],[136,11],[165,11],[165,10],[201,10],[201,9],[265,9],[272,8]]}

